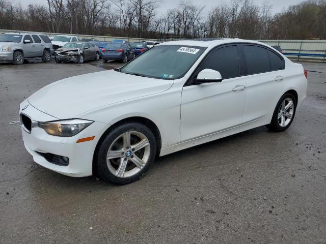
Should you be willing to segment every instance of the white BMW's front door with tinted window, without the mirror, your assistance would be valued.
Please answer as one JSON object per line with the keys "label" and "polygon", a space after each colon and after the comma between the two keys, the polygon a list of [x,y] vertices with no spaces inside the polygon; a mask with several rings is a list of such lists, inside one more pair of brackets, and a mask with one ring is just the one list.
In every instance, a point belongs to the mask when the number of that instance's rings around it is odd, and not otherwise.
{"label": "white BMW's front door with tinted window, without the mirror", "polygon": [[205,57],[194,78],[201,70],[212,69],[219,71],[223,80],[199,85],[189,83],[183,87],[181,142],[242,123],[246,84],[243,83],[242,77],[239,77],[241,72],[239,60],[237,45],[216,48]]}

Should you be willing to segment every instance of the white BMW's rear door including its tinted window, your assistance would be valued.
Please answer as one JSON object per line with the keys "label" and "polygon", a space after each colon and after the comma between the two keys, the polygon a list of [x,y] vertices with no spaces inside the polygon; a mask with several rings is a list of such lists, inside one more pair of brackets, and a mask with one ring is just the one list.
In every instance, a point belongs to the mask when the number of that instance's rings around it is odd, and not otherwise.
{"label": "white BMW's rear door including its tinted window", "polygon": [[243,122],[252,121],[273,114],[282,96],[284,59],[274,50],[265,46],[242,44],[246,76],[246,104]]}

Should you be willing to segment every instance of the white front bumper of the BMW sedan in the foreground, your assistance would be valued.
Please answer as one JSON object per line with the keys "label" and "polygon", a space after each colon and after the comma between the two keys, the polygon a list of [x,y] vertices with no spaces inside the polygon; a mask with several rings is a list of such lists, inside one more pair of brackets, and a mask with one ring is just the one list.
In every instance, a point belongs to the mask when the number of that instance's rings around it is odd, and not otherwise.
{"label": "white front bumper of the BMW sedan in the foreground", "polygon": [[[26,105],[29,106],[22,111]],[[34,108],[26,100],[20,104],[19,113],[24,113],[35,121],[58,120],[58,118]],[[85,130],[72,137],[51,136],[39,127],[32,128],[30,133],[23,128],[21,130],[24,146],[37,164],[64,175],[83,177],[92,175],[95,147],[106,128],[106,124],[95,121]],[[80,138],[91,136],[95,136],[92,141],[76,143]],[[39,153],[68,157],[69,164],[61,166],[51,163]]]}

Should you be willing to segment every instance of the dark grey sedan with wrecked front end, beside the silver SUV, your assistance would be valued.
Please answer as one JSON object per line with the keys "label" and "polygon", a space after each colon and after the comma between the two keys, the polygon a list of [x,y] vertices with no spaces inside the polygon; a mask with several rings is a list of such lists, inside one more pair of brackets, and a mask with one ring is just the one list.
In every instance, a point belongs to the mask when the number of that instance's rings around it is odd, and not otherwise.
{"label": "dark grey sedan with wrecked front end, beside the silver SUV", "polygon": [[99,60],[99,48],[90,42],[70,42],[55,51],[56,63],[77,62],[83,64],[86,60]]}

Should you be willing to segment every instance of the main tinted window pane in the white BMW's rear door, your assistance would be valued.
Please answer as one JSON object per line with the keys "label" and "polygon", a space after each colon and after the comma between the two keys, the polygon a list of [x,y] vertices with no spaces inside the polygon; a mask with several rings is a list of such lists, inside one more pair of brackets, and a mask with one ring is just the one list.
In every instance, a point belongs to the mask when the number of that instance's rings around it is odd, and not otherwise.
{"label": "main tinted window pane in the white BMW's rear door", "polygon": [[267,49],[258,46],[243,45],[248,75],[270,71]]}

